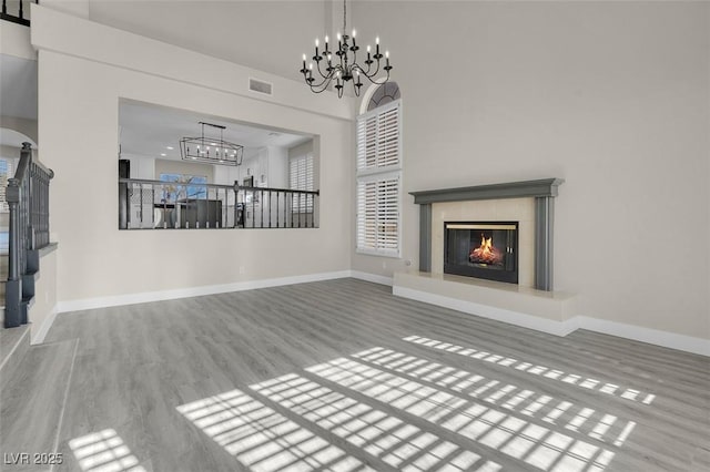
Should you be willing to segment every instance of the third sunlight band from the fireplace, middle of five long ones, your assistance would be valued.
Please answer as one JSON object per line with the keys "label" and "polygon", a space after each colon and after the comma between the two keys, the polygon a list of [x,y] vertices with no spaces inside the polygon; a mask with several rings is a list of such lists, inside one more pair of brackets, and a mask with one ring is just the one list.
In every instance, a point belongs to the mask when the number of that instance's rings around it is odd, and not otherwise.
{"label": "third sunlight band from the fireplace, middle of five long ones", "polygon": [[306,371],[546,471],[602,471],[613,452],[503,411],[339,358]]}

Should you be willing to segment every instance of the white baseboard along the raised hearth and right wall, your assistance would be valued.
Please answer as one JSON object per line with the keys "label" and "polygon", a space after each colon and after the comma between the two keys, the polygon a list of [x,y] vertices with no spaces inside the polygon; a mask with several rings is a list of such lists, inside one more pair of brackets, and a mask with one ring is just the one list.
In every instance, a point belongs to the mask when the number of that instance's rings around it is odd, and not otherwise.
{"label": "white baseboard along the raised hearth and right wall", "polygon": [[469,315],[479,316],[481,318],[508,322],[510,325],[535,329],[536,331],[542,331],[560,337],[565,337],[578,329],[587,329],[589,331],[601,332],[633,341],[647,342],[663,348],[710,357],[710,340],[692,336],[660,331],[657,329],[626,325],[622,322],[587,316],[576,316],[565,321],[556,321],[552,319],[539,318],[517,311],[510,311],[404,287],[394,287],[393,294],[398,297],[450,308]]}

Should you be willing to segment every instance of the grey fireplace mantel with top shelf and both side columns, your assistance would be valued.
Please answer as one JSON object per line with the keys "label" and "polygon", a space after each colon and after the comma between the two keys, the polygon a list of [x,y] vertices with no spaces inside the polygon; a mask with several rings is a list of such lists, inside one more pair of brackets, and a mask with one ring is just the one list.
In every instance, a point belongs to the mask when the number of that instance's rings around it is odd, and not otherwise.
{"label": "grey fireplace mantel with top shelf and both side columns", "polygon": [[432,204],[501,198],[535,198],[535,288],[552,290],[555,197],[562,178],[508,182],[409,192],[419,205],[419,270],[432,271]]}

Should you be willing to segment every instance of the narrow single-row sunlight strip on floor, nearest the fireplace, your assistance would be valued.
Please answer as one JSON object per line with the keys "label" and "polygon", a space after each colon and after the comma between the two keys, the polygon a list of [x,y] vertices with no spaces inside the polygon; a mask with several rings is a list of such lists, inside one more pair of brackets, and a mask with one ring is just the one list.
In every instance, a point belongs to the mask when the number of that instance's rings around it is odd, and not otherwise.
{"label": "narrow single-row sunlight strip on floor, nearest the fireplace", "polygon": [[409,336],[403,338],[407,342],[414,342],[416,345],[426,346],[429,348],[453,352],[459,356],[470,357],[479,359],[486,362],[496,363],[498,366],[509,367],[511,369],[520,370],[524,372],[532,373],[536,376],[542,376],[550,380],[556,380],[580,387],[588,390],[599,391],[607,394],[612,394],[626,400],[638,401],[645,404],[650,404],[656,398],[652,393],[643,393],[639,390],[622,388],[615,383],[602,382],[597,379],[586,378],[576,373],[566,373],[561,370],[551,369],[549,367],[536,366],[530,362],[525,362],[518,359],[513,359],[505,356],[498,356],[495,353],[479,351],[474,348],[465,348],[463,346],[452,345],[449,342],[437,341],[435,339],[424,338],[420,336]]}

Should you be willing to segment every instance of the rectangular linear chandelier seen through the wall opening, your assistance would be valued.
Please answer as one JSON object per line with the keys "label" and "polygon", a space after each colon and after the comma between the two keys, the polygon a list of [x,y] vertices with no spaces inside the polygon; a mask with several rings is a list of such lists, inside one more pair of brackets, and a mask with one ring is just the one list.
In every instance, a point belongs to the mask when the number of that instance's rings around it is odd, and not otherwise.
{"label": "rectangular linear chandelier seen through the wall opening", "polygon": [[[199,137],[183,137],[180,140],[180,155],[183,161],[199,161],[220,165],[241,165],[244,157],[244,146],[224,141],[223,132],[226,126],[199,122],[202,135]],[[220,137],[205,136],[204,127],[220,130]],[[214,132],[216,134],[216,131]]]}

